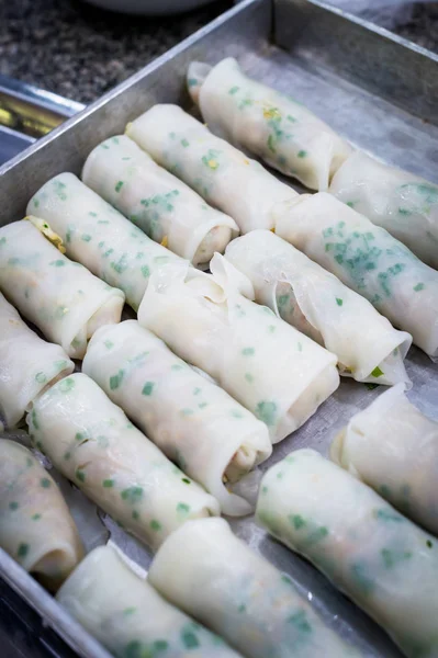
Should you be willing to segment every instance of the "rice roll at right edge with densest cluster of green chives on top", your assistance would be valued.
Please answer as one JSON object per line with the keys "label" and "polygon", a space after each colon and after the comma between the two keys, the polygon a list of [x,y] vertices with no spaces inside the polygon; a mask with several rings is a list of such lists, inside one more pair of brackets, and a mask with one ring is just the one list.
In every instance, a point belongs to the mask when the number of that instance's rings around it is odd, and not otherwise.
{"label": "rice roll at right edge with densest cluster of green chives on top", "polygon": [[276,232],[438,356],[438,272],[384,228],[319,192],[283,204]]}

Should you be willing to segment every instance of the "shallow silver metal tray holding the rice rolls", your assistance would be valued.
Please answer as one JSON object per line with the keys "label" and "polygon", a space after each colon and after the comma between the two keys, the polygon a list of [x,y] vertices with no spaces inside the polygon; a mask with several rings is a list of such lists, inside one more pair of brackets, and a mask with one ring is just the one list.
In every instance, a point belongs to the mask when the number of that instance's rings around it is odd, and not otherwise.
{"label": "shallow silver metal tray holding the rice rolls", "polygon": [[[290,92],[355,145],[427,179],[438,163],[438,57],[317,0],[244,0],[166,55],[142,69],[79,115],[55,128],[0,169],[0,224],[23,216],[27,200],[50,177],[79,173],[102,139],[157,102],[190,109],[184,73],[192,59],[216,63],[233,55],[249,75]],[[437,366],[412,349],[407,371],[411,399],[438,419]],[[313,446],[327,454],[336,430],[380,390],[342,381],[341,386],[297,432],[278,444],[265,470],[293,449]],[[69,503],[82,495],[63,478]],[[82,497],[83,498],[83,497]],[[74,504],[75,507],[75,504]],[[88,507],[94,515],[94,508]],[[103,521],[112,541],[147,569],[150,554]],[[254,520],[233,521],[255,551],[289,572],[327,623],[368,658],[400,658],[384,632],[308,563],[270,540]],[[82,529],[88,546],[96,527]],[[103,535],[99,541],[104,541]],[[0,575],[80,655],[108,657],[27,574],[0,551]]]}

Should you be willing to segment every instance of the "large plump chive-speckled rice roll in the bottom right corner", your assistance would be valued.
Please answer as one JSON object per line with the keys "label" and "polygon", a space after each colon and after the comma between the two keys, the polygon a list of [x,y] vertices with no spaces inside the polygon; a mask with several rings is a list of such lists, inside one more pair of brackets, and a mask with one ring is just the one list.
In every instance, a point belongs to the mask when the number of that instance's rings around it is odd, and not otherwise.
{"label": "large plump chive-speckled rice roll in the bottom right corner", "polygon": [[437,656],[438,541],[372,489],[314,450],[299,450],[266,473],[256,519],[372,616],[408,658]]}

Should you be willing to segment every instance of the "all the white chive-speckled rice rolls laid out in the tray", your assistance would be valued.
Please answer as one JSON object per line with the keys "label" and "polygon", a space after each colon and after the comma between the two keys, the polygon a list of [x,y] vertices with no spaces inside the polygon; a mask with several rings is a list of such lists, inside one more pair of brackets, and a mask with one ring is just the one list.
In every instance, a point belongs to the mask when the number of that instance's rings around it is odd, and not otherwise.
{"label": "all the white chive-speckled rice rolls laid out in the tray", "polygon": [[[438,186],[232,58],[188,88],[206,125],[155,105],[0,228],[0,416],[32,443],[0,439],[0,546],[119,658],[362,655],[220,518],[255,512],[408,658],[438,656],[438,423],[404,363],[438,358]],[[339,375],[391,388],[330,460],[274,463]],[[146,579],[85,557],[47,465],[150,549]]]}

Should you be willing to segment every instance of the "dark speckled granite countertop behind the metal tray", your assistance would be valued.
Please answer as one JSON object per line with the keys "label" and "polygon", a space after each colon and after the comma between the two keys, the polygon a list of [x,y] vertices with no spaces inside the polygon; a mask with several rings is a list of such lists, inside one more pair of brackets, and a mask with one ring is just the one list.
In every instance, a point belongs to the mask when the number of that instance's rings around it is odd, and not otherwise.
{"label": "dark speckled granite countertop behind the metal tray", "polygon": [[[151,19],[79,0],[3,1],[0,72],[89,103],[232,4],[216,0],[186,14]],[[408,5],[397,16],[396,32],[438,53],[438,2]]]}

